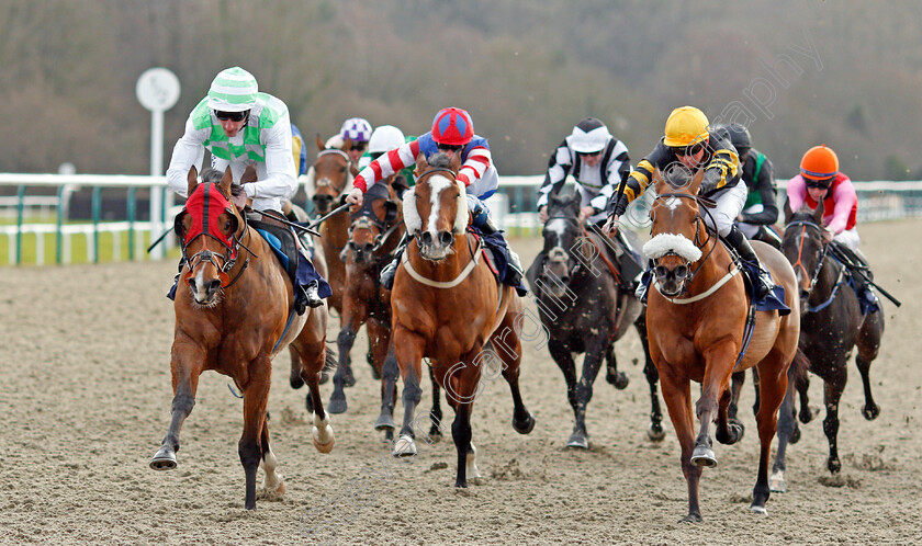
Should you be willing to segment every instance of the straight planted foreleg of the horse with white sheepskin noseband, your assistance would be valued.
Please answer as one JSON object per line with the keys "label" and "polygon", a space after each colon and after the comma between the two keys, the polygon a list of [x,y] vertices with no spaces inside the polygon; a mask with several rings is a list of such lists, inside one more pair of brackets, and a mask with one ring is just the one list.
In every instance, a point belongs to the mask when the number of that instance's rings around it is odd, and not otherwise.
{"label": "straight planted foreleg of the horse with white sheepskin noseband", "polygon": [[688,515],[683,517],[684,522],[700,522],[701,508],[698,499],[698,489],[701,479],[701,467],[692,462],[692,452],[695,447],[695,419],[692,413],[692,388],[688,379],[675,378],[672,375],[660,375],[663,388],[663,398],[666,400],[666,409],[670,412],[678,445],[682,447],[679,464],[682,474],[688,486]]}

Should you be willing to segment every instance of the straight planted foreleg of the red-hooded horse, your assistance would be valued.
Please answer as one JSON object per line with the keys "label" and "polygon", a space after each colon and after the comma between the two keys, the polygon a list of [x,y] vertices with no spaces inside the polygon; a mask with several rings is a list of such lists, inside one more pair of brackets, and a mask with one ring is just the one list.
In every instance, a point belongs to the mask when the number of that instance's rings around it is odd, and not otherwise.
{"label": "straight planted foreleg of the red-hooded horse", "polygon": [[244,386],[244,433],[237,452],[247,480],[244,501],[247,510],[256,510],[256,470],[262,459],[260,440],[266,425],[271,371],[272,364],[268,357],[258,359],[249,365],[250,380]]}

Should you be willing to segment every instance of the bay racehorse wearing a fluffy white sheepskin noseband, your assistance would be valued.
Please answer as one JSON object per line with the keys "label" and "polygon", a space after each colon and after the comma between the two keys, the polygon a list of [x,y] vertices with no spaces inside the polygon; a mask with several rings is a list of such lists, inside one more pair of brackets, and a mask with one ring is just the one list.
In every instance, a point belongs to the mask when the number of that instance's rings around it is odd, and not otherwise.
{"label": "bay racehorse wearing a fluffy white sheepskin noseband", "polygon": [[[761,403],[756,421],[761,452],[751,509],[766,513],[768,456],[777,426],[777,411],[787,389],[787,371],[797,352],[800,314],[794,271],[785,257],[758,241],[752,246],[776,284],[785,289],[791,312],[755,311],[753,331],[744,348],[750,296],[739,266],[718,237],[706,228],[705,215],[715,203],[698,196],[704,170],[690,183],[653,177],[656,197],[651,208],[652,238],[644,253],[654,260],[646,304],[650,355],[660,372],[663,398],[682,446],[682,470],[688,485],[688,514],[701,521],[698,487],[701,467],[715,466],[711,422],[718,442],[732,444],[740,429],[728,422],[730,375],[756,366]],[[741,354],[742,352],[742,354]],[[701,384],[692,412],[689,382]],[[694,433],[694,417],[700,429]]]}

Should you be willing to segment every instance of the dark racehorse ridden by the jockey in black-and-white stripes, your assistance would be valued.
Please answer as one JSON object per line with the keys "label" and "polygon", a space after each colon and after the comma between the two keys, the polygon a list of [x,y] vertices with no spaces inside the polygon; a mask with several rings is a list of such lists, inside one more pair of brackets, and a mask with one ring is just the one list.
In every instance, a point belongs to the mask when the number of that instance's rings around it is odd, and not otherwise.
{"label": "dark racehorse ridden by the jockey in black-and-white stripes", "polygon": [[[621,288],[619,269],[606,249],[610,243],[581,224],[580,203],[578,194],[551,196],[543,229],[544,251],[528,270],[541,322],[549,332],[548,349],[563,372],[566,398],[575,416],[573,434],[566,445],[584,450],[589,446],[586,407],[603,359],[608,382],[619,389],[628,386],[628,377],[618,372],[615,342],[631,326],[643,344],[643,372],[650,384],[652,409],[648,436],[660,441],[665,437],[656,393],[660,377],[646,349],[645,310],[632,291]],[[585,353],[578,383],[573,353]]]}

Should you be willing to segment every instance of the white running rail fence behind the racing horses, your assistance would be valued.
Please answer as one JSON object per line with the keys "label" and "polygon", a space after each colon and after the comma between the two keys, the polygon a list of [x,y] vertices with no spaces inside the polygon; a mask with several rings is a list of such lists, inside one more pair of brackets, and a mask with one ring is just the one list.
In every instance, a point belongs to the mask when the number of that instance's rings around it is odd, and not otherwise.
{"label": "white running rail fence behind the racing horses", "polygon": [[[503,177],[499,191],[491,197],[490,206],[497,225],[514,234],[537,234],[540,229],[536,214],[538,187],[543,175]],[[855,182],[858,192],[858,219],[872,221],[922,217],[922,181],[915,182]],[[300,184],[301,187],[304,184]],[[116,200],[124,203],[125,212],[115,214],[104,209],[102,192],[119,193]],[[148,202],[153,192],[161,192],[158,211],[136,214],[137,202]],[[48,193],[54,193],[49,195]],[[138,195],[136,195],[136,193]],[[89,194],[89,198],[88,195]],[[124,194],[124,195],[123,195]],[[34,249],[34,261],[71,263],[72,261],[100,261],[123,259],[123,248],[128,246],[128,259],[147,259],[146,244],[159,237],[172,224],[170,208],[172,192],[167,189],[166,177],[132,177],[113,174],[15,174],[0,173],[0,248],[5,242],[5,261],[0,263],[23,263],[23,249]],[[784,186],[779,186],[779,200],[784,201]],[[71,204],[76,200],[90,202],[90,219],[75,221]],[[119,201],[124,200],[124,201]],[[303,190],[295,201],[305,204]],[[308,204],[310,206],[310,204]],[[639,202],[636,206],[644,206]],[[54,216],[54,221],[36,221],[37,216]],[[113,217],[119,216],[119,217]],[[82,216],[87,216],[85,213]],[[153,221],[150,221],[153,216]],[[127,241],[123,238],[127,234]],[[111,255],[100,255],[100,237],[111,239]],[[53,260],[46,259],[47,238],[56,247]],[[86,255],[75,257],[75,241],[86,241]],[[166,246],[173,244],[171,237]],[[109,246],[106,246],[109,247]]]}

